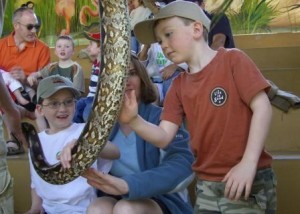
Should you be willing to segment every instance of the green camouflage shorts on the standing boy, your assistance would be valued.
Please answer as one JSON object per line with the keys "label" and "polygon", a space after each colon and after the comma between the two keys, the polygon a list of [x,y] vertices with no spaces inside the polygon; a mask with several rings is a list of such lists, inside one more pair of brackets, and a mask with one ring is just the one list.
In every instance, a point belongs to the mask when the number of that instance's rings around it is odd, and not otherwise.
{"label": "green camouflage shorts on the standing boy", "polygon": [[248,200],[241,198],[232,201],[224,197],[225,183],[198,180],[194,213],[276,213],[276,186],[276,177],[271,168],[259,170]]}

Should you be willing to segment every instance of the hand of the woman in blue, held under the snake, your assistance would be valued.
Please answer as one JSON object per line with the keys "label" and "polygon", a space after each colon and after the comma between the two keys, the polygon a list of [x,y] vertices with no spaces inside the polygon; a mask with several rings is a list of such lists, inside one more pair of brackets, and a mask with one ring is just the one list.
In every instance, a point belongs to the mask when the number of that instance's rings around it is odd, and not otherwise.
{"label": "hand of the woman in blue, held under the snake", "polygon": [[87,169],[83,175],[91,186],[111,195],[124,195],[129,191],[125,180],[98,172],[93,168]]}

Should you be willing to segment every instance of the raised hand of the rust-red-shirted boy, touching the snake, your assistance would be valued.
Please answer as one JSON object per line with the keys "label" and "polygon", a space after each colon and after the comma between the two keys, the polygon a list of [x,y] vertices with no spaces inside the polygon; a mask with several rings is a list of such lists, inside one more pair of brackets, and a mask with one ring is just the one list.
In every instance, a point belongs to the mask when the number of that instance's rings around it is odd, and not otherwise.
{"label": "raised hand of the rust-red-shirted boy, touching the snake", "polygon": [[124,95],[122,109],[119,115],[121,123],[130,123],[138,115],[138,103],[136,100],[135,91],[129,91]]}

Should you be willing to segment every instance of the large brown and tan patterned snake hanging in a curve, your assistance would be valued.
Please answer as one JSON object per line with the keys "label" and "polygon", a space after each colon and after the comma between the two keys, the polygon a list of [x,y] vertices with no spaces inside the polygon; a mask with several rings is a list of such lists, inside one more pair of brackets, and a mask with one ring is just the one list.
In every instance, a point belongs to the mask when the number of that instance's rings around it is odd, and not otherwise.
{"label": "large brown and tan patterned snake hanging in a curve", "polygon": [[104,31],[102,72],[89,120],[72,150],[71,168],[63,169],[60,163],[50,166],[44,158],[34,127],[28,123],[22,126],[36,172],[52,184],[68,183],[93,164],[105,146],[121,108],[130,59],[127,1],[101,0],[100,3]]}

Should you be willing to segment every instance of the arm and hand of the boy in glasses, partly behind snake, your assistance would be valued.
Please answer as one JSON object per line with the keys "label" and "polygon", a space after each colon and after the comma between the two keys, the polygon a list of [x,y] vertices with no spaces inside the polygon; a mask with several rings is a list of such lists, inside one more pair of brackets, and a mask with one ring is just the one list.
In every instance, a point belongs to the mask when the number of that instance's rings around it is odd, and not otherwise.
{"label": "arm and hand of the boy in glasses, partly behind snake", "polygon": [[[72,160],[71,150],[75,146],[76,140],[71,141],[67,144],[63,150],[60,152],[59,157],[57,157],[63,168],[71,168],[70,161]],[[120,151],[119,148],[108,141],[102,151],[99,154],[100,158],[108,159],[108,160],[115,160],[120,158]]]}

